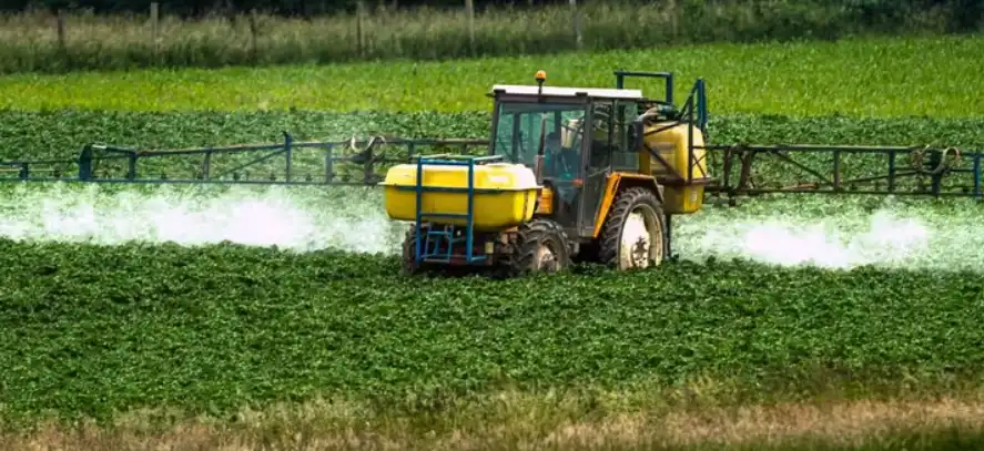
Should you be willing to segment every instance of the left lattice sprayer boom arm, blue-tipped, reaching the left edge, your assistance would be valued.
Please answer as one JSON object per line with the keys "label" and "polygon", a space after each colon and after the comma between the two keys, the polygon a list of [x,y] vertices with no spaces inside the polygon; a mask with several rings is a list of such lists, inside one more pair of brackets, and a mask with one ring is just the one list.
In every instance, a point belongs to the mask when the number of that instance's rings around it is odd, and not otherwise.
{"label": "left lattice sprayer boom arm, blue-tipped, reaching the left edge", "polygon": [[89,144],[77,158],[0,162],[0,182],[375,185],[422,153],[483,155],[487,140],[367,140],[139,150]]}

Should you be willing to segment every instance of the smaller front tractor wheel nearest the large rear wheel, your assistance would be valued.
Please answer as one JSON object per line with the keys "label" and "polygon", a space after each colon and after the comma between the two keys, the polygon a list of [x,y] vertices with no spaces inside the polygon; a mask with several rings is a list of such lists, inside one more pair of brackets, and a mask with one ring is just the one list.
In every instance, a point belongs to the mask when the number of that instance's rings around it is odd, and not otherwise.
{"label": "smaller front tractor wheel nearest the large rear wheel", "polygon": [[571,266],[567,233],[556,222],[542,218],[519,226],[513,253],[503,266],[507,277],[567,270]]}

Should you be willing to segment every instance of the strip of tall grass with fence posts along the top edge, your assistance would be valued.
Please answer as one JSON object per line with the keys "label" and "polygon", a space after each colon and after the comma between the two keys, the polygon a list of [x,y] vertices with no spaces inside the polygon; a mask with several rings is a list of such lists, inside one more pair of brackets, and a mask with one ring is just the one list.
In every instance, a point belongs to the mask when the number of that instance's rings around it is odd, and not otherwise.
{"label": "strip of tall grass with fence posts along the top edge", "polygon": [[[805,4],[804,4],[805,3]],[[474,33],[464,11],[387,11],[313,20],[265,16],[181,21],[64,17],[63,40],[50,13],[0,17],[0,73],[341,62],[359,59],[448,59],[542,54],[578,49],[651,48],[681,42],[835,39],[859,33],[940,33],[966,12],[892,4],[872,14],[830,1],[591,3],[581,7],[580,37],[566,7],[479,11]],[[165,11],[166,12],[166,11]],[[887,14],[885,13],[887,12]],[[968,22],[963,20],[964,22]],[[646,23],[646,27],[639,27]],[[977,27],[964,27],[976,29]],[[469,37],[474,35],[474,41]]]}

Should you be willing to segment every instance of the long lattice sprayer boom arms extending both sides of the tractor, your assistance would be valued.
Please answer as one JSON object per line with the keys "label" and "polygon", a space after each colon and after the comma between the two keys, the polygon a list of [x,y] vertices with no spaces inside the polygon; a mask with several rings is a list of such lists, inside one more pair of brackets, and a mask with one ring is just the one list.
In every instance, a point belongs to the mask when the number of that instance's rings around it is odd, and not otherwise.
{"label": "long lattice sprayer boom arms extending both sides of the tractor", "polygon": [[[683,122],[681,122],[683,123]],[[87,145],[77,158],[0,162],[0,182],[375,185],[394,164],[438,150],[484,154],[487,140],[357,140],[139,151]],[[642,147],[646,148],[645,146]],[[984,198],[982,153],[954,147],[848,145],[697,145],[687,155],[696,181],[714,175],[714,197],[768,193],[926,195]],[[422,152],[423,151],[423,152]],[[647,158],[673,166],[655,150]],[[672,175],[672,174],[671,174]]]}

